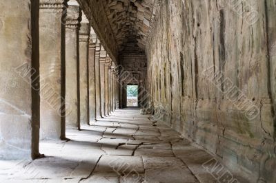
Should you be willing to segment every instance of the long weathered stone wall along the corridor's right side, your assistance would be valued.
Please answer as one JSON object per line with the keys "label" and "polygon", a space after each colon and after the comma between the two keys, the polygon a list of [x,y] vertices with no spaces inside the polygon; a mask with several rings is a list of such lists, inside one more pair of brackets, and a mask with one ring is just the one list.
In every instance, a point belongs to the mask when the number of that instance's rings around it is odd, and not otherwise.
{"label": "long weathered stone wall along the corridor's right side", "polygon": [[150,104],[233,173],[275,182],[276,1],[157,5],[146,46]]}

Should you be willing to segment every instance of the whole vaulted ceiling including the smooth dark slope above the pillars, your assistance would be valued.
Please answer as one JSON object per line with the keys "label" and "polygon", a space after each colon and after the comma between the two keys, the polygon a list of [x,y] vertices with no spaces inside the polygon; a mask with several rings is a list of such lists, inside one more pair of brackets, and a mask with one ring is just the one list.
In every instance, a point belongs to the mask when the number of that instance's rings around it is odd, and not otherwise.
{"label": "whole vaulted ceiling including the smooth dark slope above the pillars", "polygon": [[121,53],[145,51],[160,0],[77,1],[113,61]]}

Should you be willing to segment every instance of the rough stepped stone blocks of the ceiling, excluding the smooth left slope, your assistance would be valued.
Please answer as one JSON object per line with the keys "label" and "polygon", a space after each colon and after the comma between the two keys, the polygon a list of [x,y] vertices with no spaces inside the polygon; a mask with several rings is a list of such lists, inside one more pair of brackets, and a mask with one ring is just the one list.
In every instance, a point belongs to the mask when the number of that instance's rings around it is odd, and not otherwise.
{"label": "rough stepped stone blocks of the ceiling, excluding the smooth left slope", "polygon": [[102,3],[119,52],[126,47],[144,51],[154,0],[104,0]]}

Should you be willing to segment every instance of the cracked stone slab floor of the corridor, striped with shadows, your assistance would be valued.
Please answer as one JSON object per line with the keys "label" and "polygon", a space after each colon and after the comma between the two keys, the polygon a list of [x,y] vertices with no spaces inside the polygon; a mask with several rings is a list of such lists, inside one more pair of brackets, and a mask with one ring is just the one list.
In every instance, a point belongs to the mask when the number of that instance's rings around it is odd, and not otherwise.
{"label": "cracked stone slab floor of the corridor, striped with shadows", "polygon": [[0,182],[223,182],[208,169],[212,155],[139,110],[82,129],[68,129],[68,142],[41,142],[46,158],[0,161]]}

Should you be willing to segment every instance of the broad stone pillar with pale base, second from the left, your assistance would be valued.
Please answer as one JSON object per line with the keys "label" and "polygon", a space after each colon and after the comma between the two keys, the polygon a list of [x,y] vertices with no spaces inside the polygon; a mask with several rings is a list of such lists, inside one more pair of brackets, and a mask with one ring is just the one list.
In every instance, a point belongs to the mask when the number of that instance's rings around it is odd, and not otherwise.
{"label": "broad stone pillar with pale base, second from the left", "polygon": [[65,97],[61,85],[63,80],[61,65],[65,61],[65,26],[61,20],[65,10],[66,5],[63,0],[51,3],[40,0],[41,139],[65,138],[65,120],[61,114]]}

